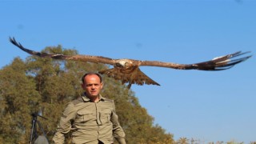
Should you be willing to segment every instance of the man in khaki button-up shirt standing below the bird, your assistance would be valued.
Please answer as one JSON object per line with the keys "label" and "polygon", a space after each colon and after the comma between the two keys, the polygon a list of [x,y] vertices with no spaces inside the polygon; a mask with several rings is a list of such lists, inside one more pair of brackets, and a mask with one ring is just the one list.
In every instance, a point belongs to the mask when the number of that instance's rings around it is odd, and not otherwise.
{"label": "man in khaki button-up shirt standing below the bird", "polygon": [[114,142],[114,136],[120,144],[126,144],[114,102],[102,97],[102,87],[100,74],[87,73],[82,77],[85,93],[66,106],[53,138],[54,143],[64,143],[64,135],[72,130],[73,143],[110,144]]}

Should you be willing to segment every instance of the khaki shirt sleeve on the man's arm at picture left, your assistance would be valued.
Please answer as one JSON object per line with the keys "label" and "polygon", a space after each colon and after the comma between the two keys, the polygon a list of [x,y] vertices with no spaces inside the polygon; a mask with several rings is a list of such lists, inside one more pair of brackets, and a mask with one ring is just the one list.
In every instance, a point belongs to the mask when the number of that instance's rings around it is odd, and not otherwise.
{"label": "khaki shirt sleeve on the man's arm at picture left", "polygon": [[58,127],[53,138],[54,143],[62,144],[65,142],[65,134],[70,132],[72,126],[71,122],[74,120],[75,115],[76,110],[74,109],[74,104],[70,102],[68,106],[66,106],[61,120],[58,123]]}

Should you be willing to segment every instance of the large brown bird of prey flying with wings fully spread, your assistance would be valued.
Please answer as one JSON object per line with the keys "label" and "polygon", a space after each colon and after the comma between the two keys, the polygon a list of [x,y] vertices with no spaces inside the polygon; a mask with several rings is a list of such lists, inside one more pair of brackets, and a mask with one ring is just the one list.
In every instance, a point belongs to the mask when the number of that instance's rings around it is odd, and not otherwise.
{"label": "large brown bird of prey flying with wings fully spread", "polygon": [[100,70],[98,73],[106,74],[110,78],[114,78],[116,80],[121,80],[122,84],[128,83],[128,88],[132,84],[137,85],[158,85],[158,82],[154,82],[153,79],[149,78],[144,74],[139,66],[158,66],[158,67],[166,67],[177,70],[227,70],[232,66],[246,61],[246,59],[250,58],[252,55],[245,56],[242,58],[237,58],[243,54],[248,54],[248,52],[242,53],[238,51],[234,54],[227,54],[221,57],[214,58],[210,61],[206,62],[198,62],[194,64],[178,64],[173,62],[158,62],[158,61],[140,61],[135,59],[113,59],[106,58],[102,56],[92,56],[92,55],[64,55],[64,54],[47,54],[41,53],[34,50],[26,49],[22,46],[21,43],[16,42],[15,38],[10,38],[10,42],[15,46],[18,46],[21,50],[26,51],[28,54],[36,55],[42,58],[54,58],[54,59],[63,59],[63,60],[71,60],[71,61],[82,61],[82,62],[94,62],[94,63],[104,63],[114,66],[112,69]]}

